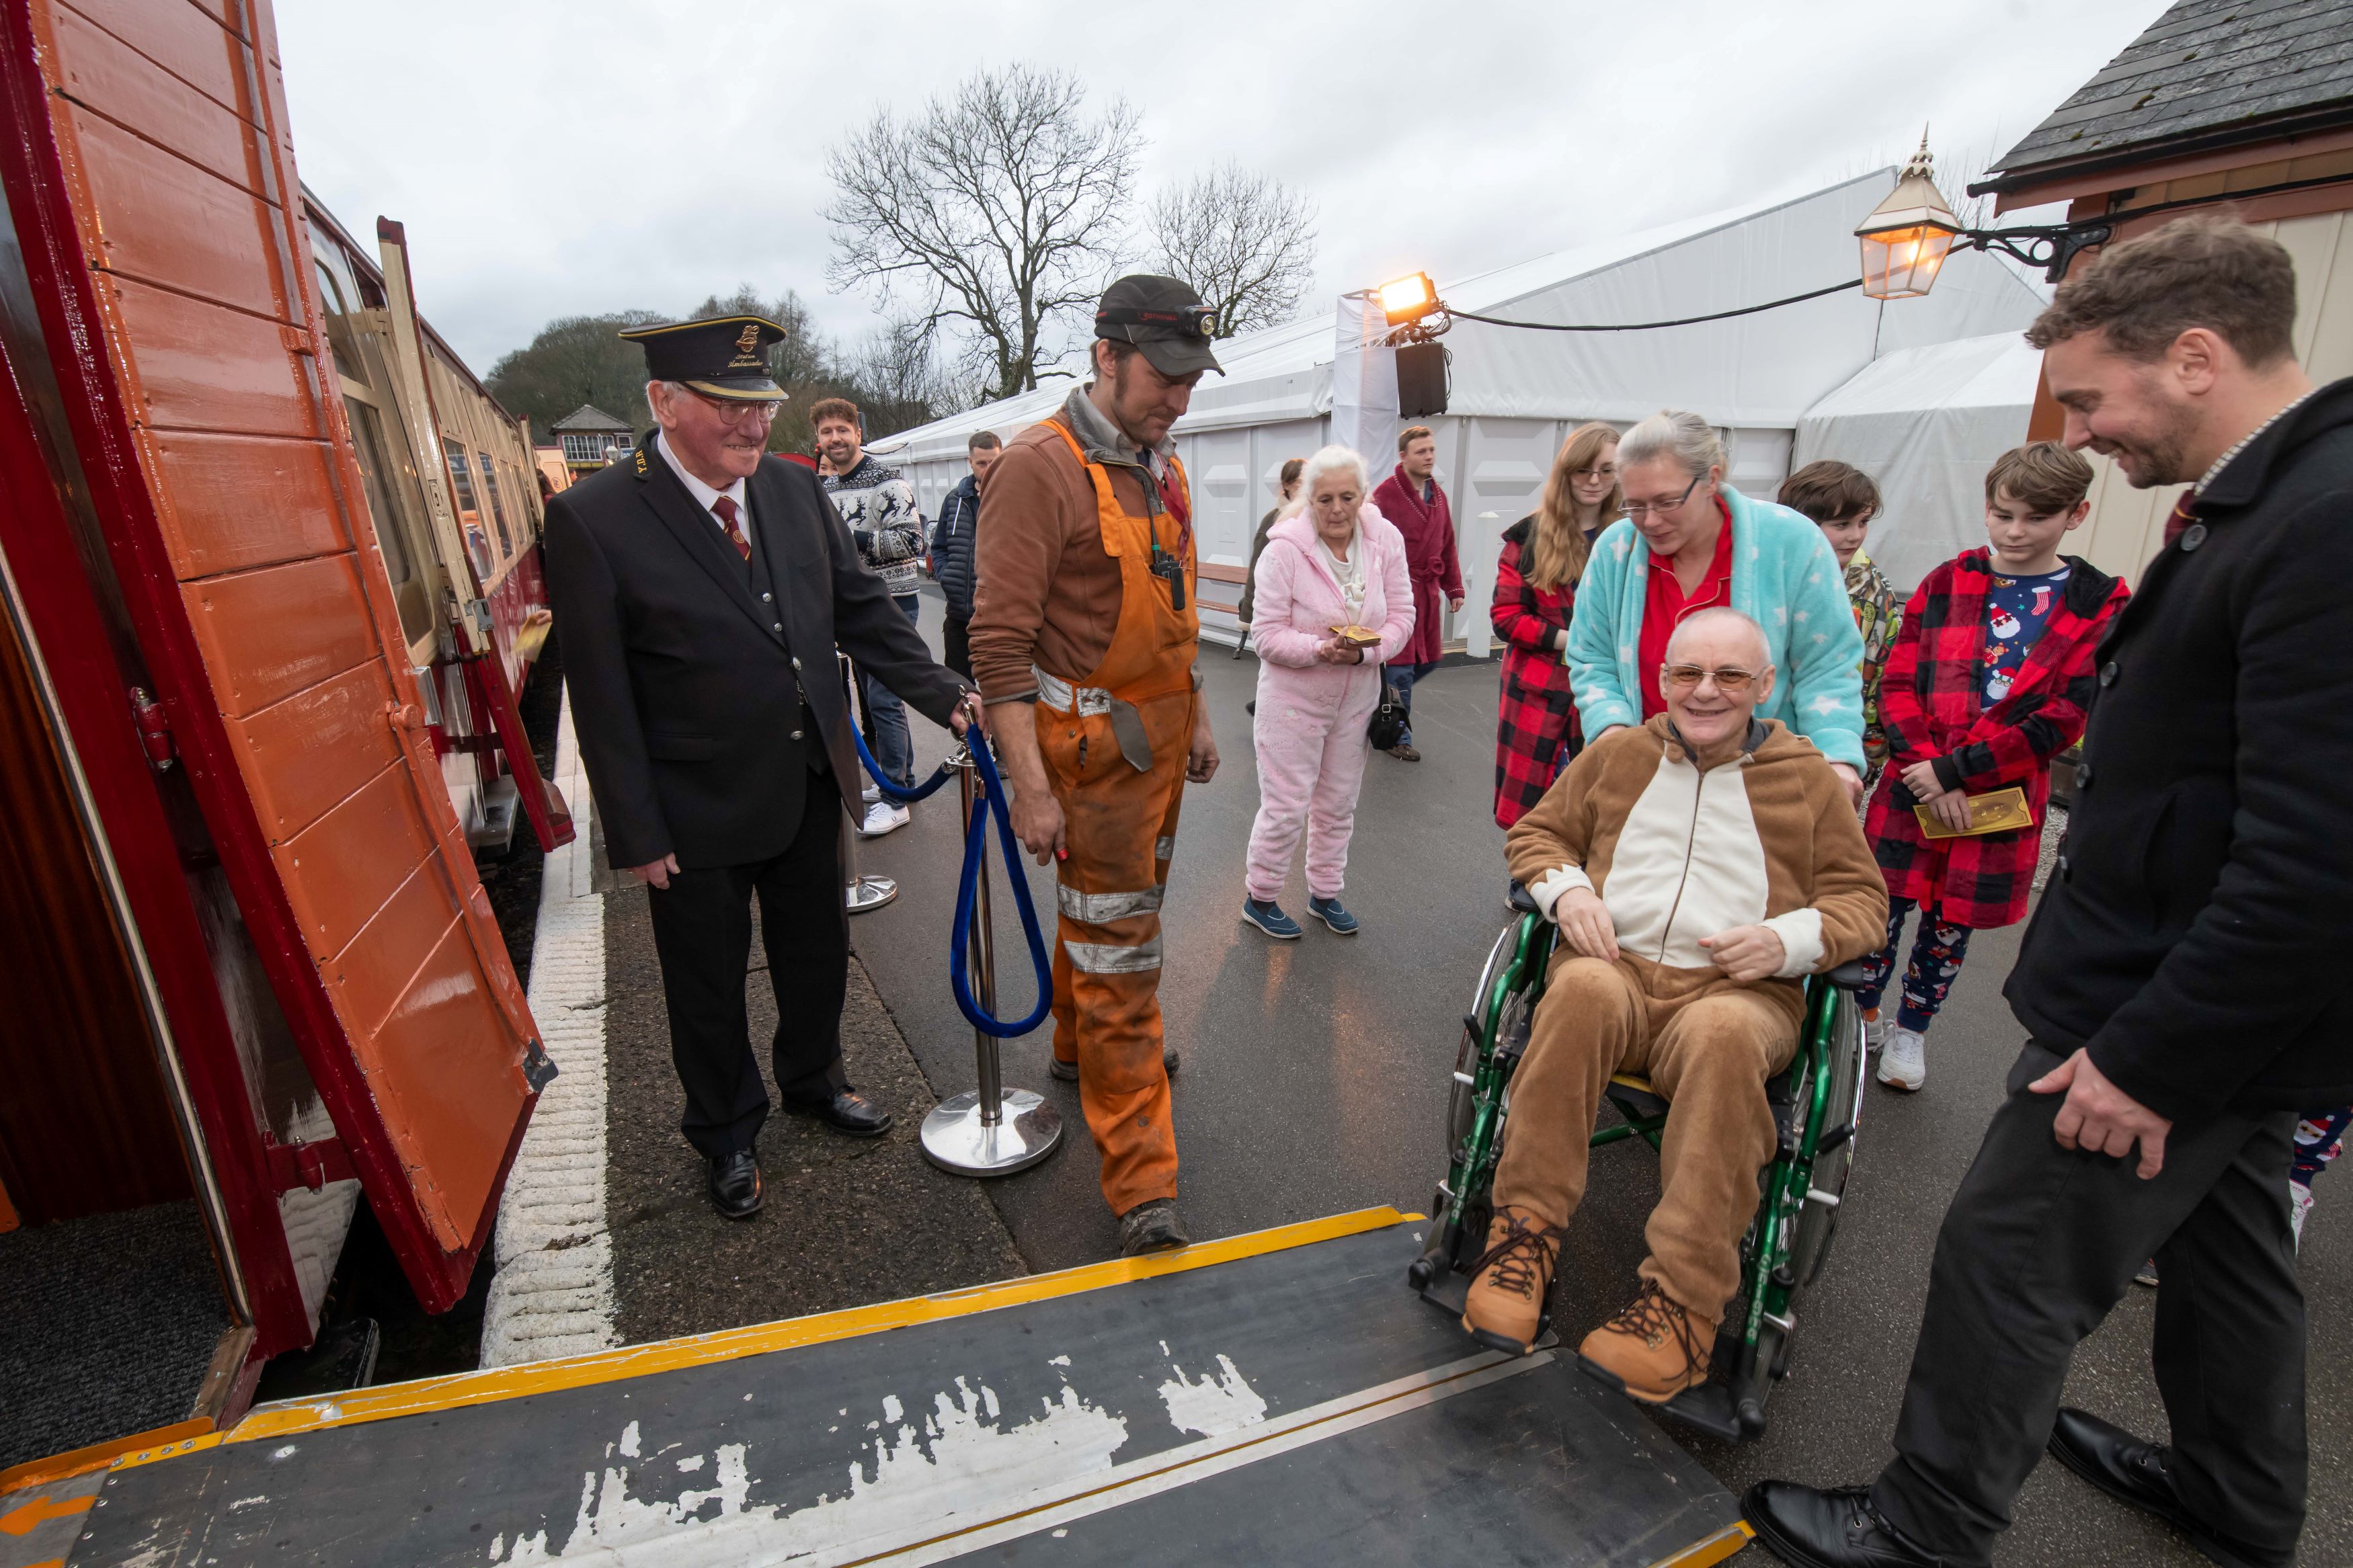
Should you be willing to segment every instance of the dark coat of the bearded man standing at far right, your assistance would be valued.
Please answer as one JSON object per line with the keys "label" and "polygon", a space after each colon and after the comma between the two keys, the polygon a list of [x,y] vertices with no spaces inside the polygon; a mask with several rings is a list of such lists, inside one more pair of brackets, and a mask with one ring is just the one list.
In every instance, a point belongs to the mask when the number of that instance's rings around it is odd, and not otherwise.
{"label": "dark coat of the bearded man standing at far right", "polygon": [[2005,994],[2141,1105],[2353,1103],[2353,378],[2240,451],[2099,646]]}

